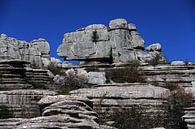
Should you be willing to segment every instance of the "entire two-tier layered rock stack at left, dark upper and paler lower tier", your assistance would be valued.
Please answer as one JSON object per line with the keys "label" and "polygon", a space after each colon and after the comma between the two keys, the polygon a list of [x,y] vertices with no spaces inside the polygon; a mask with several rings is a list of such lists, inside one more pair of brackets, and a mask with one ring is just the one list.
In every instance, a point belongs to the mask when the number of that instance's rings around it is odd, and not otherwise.
{"label": "entire two-tier layered rock stack at left, dark upper and paler lower tier", "polygon": [[[4,57],[5,58],[5,57]],[[33,117],[40,114],[37,102],[49,90],[47,70],[27,67],[26,61],[0,60],[0,105],[6,106],[13,117]]]}

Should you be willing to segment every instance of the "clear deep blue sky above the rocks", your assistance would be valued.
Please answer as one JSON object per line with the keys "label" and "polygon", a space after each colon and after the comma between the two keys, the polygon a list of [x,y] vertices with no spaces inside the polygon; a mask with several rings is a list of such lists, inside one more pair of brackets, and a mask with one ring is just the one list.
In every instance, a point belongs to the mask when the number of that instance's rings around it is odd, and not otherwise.
{"label": "clear deep blue sky above the rocks", "polygon": [[0,0],[0,33],[56,50],[65,32],[126,18],[145,46],[159,42],[168,60],[195,61],[195,0]]}

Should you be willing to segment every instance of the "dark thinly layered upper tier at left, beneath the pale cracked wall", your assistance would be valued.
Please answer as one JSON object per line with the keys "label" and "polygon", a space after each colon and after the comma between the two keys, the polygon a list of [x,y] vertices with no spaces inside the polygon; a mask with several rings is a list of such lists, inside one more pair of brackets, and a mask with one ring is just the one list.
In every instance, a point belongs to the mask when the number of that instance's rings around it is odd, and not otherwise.
{"label": "dark thinly layered upper tier at left, beneath the pale cracked wall", "polygon": [[22,60],[0,60],[0,89],[45,89],[50,80],[47,70],[32,69]]}

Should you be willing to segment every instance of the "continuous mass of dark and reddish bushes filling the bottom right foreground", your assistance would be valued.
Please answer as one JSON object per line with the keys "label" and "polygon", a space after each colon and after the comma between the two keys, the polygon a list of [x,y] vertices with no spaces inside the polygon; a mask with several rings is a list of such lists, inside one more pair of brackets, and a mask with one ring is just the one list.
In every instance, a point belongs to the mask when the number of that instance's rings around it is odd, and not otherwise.
{"label": "continuous mass of dark and reddish bushes filling the bottom right foreground", "polygon": [[118,129],[150,129],[154,127],[187,129],[186,123],[181,117],[184,115],[184,108],[192,106],[192,99],[191,93],[185,92],[184,88],[178,86],[171,91],[167,100],[168,104],[161,107],[164,112],[157,112],[151,116],[141,106],[133,106],[130,109],[120,108],[115,110],[109,118],[107,115],[103,115],[101,122],[110,119],[114,121],[113,126]]}

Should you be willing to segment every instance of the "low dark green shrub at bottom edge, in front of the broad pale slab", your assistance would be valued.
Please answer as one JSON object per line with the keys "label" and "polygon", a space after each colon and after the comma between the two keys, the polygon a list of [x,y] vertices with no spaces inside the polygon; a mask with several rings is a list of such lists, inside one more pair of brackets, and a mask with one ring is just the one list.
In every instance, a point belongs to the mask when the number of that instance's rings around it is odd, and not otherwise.
{"label": "low dark green shrub at bottom edge, in front of the broad pale slab", "polygon": [[111,119],[115,121],[113,126],[118,129],[150,129],[166,125],[163,113],[159,112],[157,115],[149,116],[145,109],[138,106],[115,111]]}

